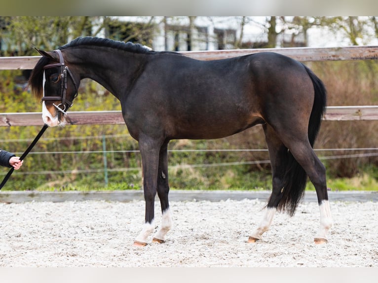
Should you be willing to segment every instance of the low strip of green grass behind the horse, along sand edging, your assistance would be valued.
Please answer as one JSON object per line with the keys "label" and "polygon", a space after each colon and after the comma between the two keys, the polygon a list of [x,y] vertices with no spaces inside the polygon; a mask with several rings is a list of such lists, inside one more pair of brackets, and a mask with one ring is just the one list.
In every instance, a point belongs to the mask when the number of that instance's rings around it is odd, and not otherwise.
{"label": "low strip of green grass behind the horse, along sand edging", "polygon": [[[67,174],[51,181],[43,177],[38,185],[27,184],[23,176],[14,175],[4,190],[32,190],[37,191],[112,191],[112,190],[141,190],[142,174],[138,172],[110,173],[109,184],[105,184],[103,174]],[[37,181],[37,180],[36,180]],[[264,191],[271,190],[271,174],[269,171],[226,170],[223,172],[210,172],[205,170],[187,170],[183,172],[170,172],[169,184],[171,190],[242,190]],[[354,177],[327,176],[327,186],[331,191],[378,191],[378,168],[370,165],[360,168]],[[306,190],[314,191],[310,181]]]}

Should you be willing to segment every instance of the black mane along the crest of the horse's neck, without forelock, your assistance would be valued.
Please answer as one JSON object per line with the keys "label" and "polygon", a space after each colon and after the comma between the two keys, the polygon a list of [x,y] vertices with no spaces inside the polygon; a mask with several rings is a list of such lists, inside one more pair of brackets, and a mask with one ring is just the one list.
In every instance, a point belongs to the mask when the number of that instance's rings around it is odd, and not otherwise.
{"label": "black mane along the crest of the horse's neck, without forelock", "polygon": [[129,52],[134,52],[134,53],[143,53],[143,54],[155,53],[155,51],[151,51],[149,48],[139,43],[115,41],[109,38],[100,38],[100,37],[92,37],[92,36],[77,37],[71,42],[59,47],[59,49],[75,47],[78,45],[104,46],[104,47],[110,47],[110,48],[125,50]]}

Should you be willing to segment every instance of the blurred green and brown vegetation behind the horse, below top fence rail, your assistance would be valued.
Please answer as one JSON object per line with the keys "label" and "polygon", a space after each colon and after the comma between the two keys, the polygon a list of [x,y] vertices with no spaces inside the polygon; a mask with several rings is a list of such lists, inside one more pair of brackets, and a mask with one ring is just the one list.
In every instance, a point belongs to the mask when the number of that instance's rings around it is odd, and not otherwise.
{"label": "blurred green and brown vegetation behind the horse, below top fence rail", "polygon": [[[328,90],[328,106],[377,105],[378,104],[378,62],[342,61],[306,63],[325,83]],[[0,72],[0,96],[2,111],[39,111],[39,103],[27,92],[17,89],[10,77],[14,72]],[[14,90],[17,90],[16,92]],[[91,95],[93,93],[93,95]],[[118,101],[108,92],[99,91],[98,85],[86,81],[80,86],[80,94],[73,110],[119,110]],[[11,109],[11,110],[10,110]],[[4,140],[1,146],[12,152],[22,152],[28,141],[14,142],[14,139],[33,138],[39,130],[33,127],[2,127],[0,135]],[[139,153],[121,152],[136,150],[138,144],[127,137],[123,125],[69,126],[65,129],[46,131],[44,138],[50,141],[38,142],[34,151],[78,151],[76,154],[30,155],[23,172],[63,171],[60,174],[22,175],[13,174],[12,184],[16,189],[95,189],[104,188],[103,154],[86,153],[101,151],[101,138],[71,139],[72,137],[101,137],[119,135],[107,139],[109,188],[130,189],[141,186]],[[56,139],[54,138],[64,138]],[[51,138],[52,141],[51,141]],[[322,156],[342,156],[350,154],[377,153],[377,150],[347,150],[350,148],[376,148],[378,141],[378,121],[324,121],[315,142],[316,149],[337,148],[335,151],[318,151]],[[234,136],[211,141],[171,141],[170,149],[265,149],[265,138],[261,126],[256,126]],[[343,150],[340,150],[343,149]],[[266,151],[202,151],[170,152],[170,184],[172,188],[188,189],[254,189],[270,188],[270,166],[266,162],[238,166],[212,166],[214,164],[256,162],[268,160]],[[329,179],[347,177],[368,183],[378,180],[378,157],[336,158],[323,161]],[[182,168],[186,164],[208,164]],[[178,167],[177,167],[178,166]],[[136,168],[134,171],[123,168]],[[2,169],[3,174],[6,169]],[[72,171],[98,170],[97,172],[72,174]],[[365,179],[368,178],[367,181]],[[358,181],[357,181],[358,183]],[[340,185],[339,185],[340,186]],[[7,186],[4,188],[7,189]],[[8,188],[10,189],[10,187]]]}

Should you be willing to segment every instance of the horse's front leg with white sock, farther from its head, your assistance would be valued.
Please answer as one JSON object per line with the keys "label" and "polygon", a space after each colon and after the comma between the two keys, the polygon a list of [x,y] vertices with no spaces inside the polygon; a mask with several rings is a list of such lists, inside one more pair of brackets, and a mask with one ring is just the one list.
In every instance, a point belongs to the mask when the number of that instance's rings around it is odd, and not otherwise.
{"label": "horse's front leg with white sock, farther from its head", "polygon": [[160,199],[162,217],[160,230],[155,234],[152,241],[160,244],[165,242],[165,235],[172,227],[172,218],[168,203],[169,185],[167,149],[168,142],[164,143],[160,149],[159,167],[157,171],[157,195]]}

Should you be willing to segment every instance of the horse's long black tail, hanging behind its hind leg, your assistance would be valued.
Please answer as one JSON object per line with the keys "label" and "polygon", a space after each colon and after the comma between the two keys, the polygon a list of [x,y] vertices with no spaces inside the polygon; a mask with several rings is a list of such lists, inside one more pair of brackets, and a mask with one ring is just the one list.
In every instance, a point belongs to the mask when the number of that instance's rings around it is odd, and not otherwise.
{"label": "horse's long black tail, hanging behind its hind leg", "polygon": [[[313,147],[326,110],[327,91],[323,82],[306,66],[304,68],[312,80],[315,91],[314,104],[308,122],[308,140]],[[277,207],[278,211],[287,212],[291,216],[294,215],[303,197],[306,181],[306,172],[289,151],[287,170],[284,176],[283,195]]]}

